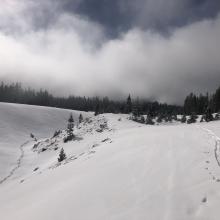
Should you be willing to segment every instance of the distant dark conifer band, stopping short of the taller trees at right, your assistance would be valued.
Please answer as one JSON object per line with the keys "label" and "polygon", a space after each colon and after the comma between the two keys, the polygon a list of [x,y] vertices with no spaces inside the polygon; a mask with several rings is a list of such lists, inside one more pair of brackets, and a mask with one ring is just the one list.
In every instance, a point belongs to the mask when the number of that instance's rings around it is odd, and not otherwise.
{"label": "distant dark conifer band, stopping short of the taller trees at right", "polygon": [[[0,102],[20,103],[29,105],[50,106],[80,111],[94,111],[96,115],[102,113],[131,113],[136,107],[137,114],[155,115],[158,113],[181,114],[182,107],[158,102],[132,100],[129,95],[125,101],[113,101],[108,97],[54,97],[47,90],[35,91],[24,89],[20,83],[0,85]],[[133,102],[133,103],[132,103]]]}

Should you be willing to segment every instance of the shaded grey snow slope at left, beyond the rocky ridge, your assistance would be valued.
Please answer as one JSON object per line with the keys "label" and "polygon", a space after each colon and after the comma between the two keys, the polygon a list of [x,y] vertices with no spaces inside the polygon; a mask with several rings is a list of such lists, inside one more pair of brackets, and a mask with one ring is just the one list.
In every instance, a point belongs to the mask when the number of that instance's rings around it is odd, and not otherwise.
{"label": "shaded grey snow slope at left, beyond the rocky ridge", "polygon": [[64,129],[70,112],[75,119],[79,112],[28,105],[0,103],[0,181],[17,165],[20,146],[36,138],[50,137],[56,129]]}

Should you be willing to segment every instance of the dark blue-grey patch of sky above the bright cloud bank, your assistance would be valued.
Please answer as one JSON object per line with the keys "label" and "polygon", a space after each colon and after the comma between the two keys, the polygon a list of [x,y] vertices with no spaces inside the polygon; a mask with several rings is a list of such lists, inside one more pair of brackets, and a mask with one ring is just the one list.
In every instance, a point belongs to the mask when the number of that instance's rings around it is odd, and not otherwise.
{"label": "dark blue-grey patch of sky above the bright cloud bank", "polygon": [[56,0],[68,13],[77,13],[102,24],[110,37],[133,27],[168,32],[214,18],[220,11],[219,0]]}

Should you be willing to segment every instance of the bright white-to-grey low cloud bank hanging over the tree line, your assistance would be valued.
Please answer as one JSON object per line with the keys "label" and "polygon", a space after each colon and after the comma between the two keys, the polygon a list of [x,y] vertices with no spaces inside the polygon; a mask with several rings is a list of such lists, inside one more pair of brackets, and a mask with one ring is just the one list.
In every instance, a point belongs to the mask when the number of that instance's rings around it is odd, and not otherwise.
{"label": "bright white-to-grey low cloud bank hanging over the tree line", "polygon": [[[191,91],[212,92],[220,84],[220,16],[169,36],[136,26],[109,38],[99,22],[50,1],[0,5],[1,80],[56,95],[119,99],[131,93],[178,104]],[[37,10],[50,16],[40,21]]]}

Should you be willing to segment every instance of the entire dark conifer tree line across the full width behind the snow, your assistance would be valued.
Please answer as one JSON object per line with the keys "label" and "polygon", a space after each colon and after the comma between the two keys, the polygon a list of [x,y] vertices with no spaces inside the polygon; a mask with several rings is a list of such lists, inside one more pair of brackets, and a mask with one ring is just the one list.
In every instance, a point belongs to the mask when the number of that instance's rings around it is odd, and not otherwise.
{"label": "entire dark conifer tree line across the full width behind the snow", "polygon": [[168,105],[156,101],[132,99],[131,95],[125,101],[113,101],[108,97],[54,97],[47,90],[35,91],[24,89],[20,83],[0,84],[0,102],[11,102],[29,105],[50,106],[57,108],[74,109],[80,111],[94,111],[96,115],[102,113],[133,113],[139,117],[147,114],[150,117],[174,117],[177,114],[205,114],[207,111],[220,111],[220,87],[212,95],[189,94],[183,106]]}

